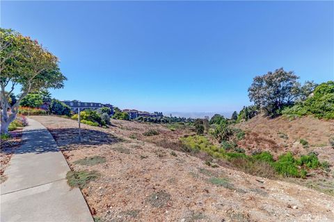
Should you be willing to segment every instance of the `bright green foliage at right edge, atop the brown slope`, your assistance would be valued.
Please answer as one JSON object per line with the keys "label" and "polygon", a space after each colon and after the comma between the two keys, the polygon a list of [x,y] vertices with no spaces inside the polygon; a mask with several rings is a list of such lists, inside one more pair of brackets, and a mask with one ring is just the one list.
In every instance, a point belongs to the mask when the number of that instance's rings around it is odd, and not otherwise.
{"label": "bright green foliage at right edge, atop the brown slope", "polygon": [[321,83],[308,99],[285,108],[283,114],[299,116],[314,114],[315,117],[334,119],[334,81]]}

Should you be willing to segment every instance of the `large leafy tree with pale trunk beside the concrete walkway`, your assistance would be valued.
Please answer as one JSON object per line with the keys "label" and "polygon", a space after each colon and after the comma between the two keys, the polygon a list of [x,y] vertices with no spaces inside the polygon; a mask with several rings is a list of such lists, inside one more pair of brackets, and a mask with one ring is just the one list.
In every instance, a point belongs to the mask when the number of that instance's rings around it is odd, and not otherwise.
{"label": "large leafy tree with pale trunk beside the concrete walkway", "polygon": [[[66,78],[58,67],[58,58],[37,40],[5,28],[0,28],[0,35],[1,133],[8,133],[19,103],[29,92],[61,88]],[[21,88],[21,94],[16,103],[10,105],[8,95],[17,86]],[[9,87],[8,91],[6,87]]]}

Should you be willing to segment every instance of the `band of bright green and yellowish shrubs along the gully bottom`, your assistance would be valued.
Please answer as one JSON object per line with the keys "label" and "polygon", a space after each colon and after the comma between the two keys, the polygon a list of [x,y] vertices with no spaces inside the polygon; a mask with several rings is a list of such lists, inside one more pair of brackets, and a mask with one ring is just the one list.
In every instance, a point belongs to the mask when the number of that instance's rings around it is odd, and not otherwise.
{"label": "band of bright green and yellowish shrubs along the gully bottom", "polygon": [[219,148],[209,142],[209,139],[205,136],[182,137],[180,140],[186,148],[185,151],[205,151],[212,157],[228,160],[234,167],[258,176],[272,176],[271,172],[275,171],[285,177],[305,178],[307,169],[326,167],[326,163],[321,164],[315,153],[295,158],[291,152],[288,152],[280,155],[278,160],[274,160],[273,155],[269,152],[256,152],[253,155],[246,155],[244,149],[226,141],[223,141],[222,147]]}

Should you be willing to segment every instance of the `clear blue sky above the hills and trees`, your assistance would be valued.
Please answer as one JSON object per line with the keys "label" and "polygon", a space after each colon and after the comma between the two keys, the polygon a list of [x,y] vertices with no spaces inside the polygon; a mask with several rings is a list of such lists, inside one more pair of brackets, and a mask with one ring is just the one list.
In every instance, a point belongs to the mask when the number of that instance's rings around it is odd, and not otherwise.
{"label": "clear blue sky above the hills and trees", "polygon": [[333,80],[333,15],[333,1],[1,1],[1,27],[60,58],[54,97],[148,111],[239,111],[279,67]]}

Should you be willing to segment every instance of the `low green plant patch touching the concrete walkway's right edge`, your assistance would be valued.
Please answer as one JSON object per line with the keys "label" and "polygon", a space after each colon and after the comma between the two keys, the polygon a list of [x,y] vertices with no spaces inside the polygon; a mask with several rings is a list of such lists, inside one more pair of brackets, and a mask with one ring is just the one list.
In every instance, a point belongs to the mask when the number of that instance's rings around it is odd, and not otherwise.
{"label": "low green plant patch touching the concrete walkway's right edge", "polygon": [[100,177],[97,171],[68,171],[66,174],[67,183],[70,187],[86,187],[88,182]]}

